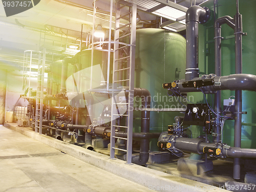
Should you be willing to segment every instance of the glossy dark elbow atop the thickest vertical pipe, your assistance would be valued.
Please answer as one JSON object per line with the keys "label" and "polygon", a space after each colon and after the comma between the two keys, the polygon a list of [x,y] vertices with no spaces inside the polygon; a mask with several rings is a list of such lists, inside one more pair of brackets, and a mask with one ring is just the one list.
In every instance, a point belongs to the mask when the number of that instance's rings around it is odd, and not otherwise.
{"label": "glossy dark elbow atop the thickest vertical pipe", "polygon": [[187,22],[198,22],[204,24],[210,17],[210,10],[207,7],[191,6],[186,12],[186,23]]}

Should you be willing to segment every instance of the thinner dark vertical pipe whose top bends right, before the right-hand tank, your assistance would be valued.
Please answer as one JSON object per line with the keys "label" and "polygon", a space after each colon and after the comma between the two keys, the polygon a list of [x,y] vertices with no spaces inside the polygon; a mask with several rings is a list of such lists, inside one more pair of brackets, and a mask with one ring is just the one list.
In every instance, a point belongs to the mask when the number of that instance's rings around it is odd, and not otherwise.
{"label": "thinner dark vertical pipe whose top bends right, before the right-hand tank", "polygon": [[[215,74],[221,76],[221,25],[227,24],[234,29],[234,19],[230,16],[223,16],[216,20],[214,24],[215,29]],[[217,91],[214,97],[215,113],[221,115],[221,91]],[[221,119],[217,117],[214,126],[214,132],[217,136],[214,136],[216,143],[222,142],[221,140]]]}

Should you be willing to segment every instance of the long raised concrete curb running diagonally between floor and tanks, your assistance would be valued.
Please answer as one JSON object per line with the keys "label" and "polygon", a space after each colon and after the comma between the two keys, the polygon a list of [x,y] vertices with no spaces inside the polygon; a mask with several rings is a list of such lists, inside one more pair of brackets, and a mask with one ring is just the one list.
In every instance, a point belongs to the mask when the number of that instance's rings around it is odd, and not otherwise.
{"label": "long raised concrete curb running diagonally between floor and tanks", "polygon": [[86,148],[54,139],[46,135],[39,135],[26,127],[19,127],[16,123],[6,123],[5,127],[44,143],[58,151],[66,153],[81,161],[99,167],[117,176],[133,181],[157,191],[227,191],[219,187],[207,185],[197,181],[173,176],[158,170],[146,168],[136,164],[127,165],[124,161],[109,159],[109,156],[99,154]]}

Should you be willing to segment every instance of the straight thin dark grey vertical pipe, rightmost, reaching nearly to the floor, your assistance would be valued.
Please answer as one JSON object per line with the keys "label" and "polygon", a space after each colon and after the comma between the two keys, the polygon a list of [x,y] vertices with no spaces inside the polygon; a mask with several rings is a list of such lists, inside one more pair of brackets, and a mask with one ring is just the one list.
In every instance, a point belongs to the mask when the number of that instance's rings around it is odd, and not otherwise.
{"label": "straight thin dark grey vertical pipe, rightmost, reaching nearly to the floor", "polygon": [[[234,30],[235,54],[236,54],[236,74],[242,73],[242,15],[238,12],[234,16],[236,28]],[[234,147],[241,147],[241,126],[242,126],[242,90],[235,92],[235,109],[234,109]],[[234,158],[233,178],[240,179],[240,159]]]}

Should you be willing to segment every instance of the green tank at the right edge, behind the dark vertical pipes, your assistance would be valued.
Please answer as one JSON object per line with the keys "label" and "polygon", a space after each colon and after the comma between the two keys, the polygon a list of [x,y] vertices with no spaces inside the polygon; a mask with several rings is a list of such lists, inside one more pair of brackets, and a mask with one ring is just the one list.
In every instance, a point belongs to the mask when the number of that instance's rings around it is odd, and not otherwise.
{"label": "green tank at the right edge, behind the dark vertical pipes", "polygon": [[[209,0],[200,6],[208,7],[211,10],[211,19],[204,25],[199,26],[199,69],[206,74],[215,73],[215,51],[214,51],[214,0]],[[236,1],[219,0],[216,1],[215,19],[236,14]],[[256,1],[240,0],[239,12],[243,16],[243,73],[256,75]],[[226,24],[222,25],[222,76],[235,73],[235,52],[233,30]],[[234,91],[222,91],[223,99],[234,96]],[[210,101],[210,97],[208,97]],[[247,115],[242,115],[242,147],[256,148],[256,93],[243,91],[242,111]],[[223,103],[222,103],[223,104]],[[222,108],[223,109],[223,108]],[[227,120],[223,130],[223,142],[233,145],[234,120]]]}

